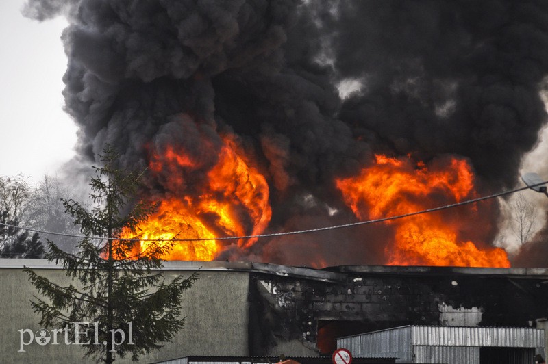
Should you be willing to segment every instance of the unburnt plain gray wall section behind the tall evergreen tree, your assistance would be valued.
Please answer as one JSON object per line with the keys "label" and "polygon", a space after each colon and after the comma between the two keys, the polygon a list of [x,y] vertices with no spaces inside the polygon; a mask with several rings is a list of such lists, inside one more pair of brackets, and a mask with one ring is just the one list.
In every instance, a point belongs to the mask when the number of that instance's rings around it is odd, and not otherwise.
{"label": "unburnt plain gray wall section behind the tall evergreen tree", "polygon": [[[15,259],[14,259],[15,260]],[[37,269],[40,275],[66,283],[64,272],[59,269]],[[166,271],[164,276],[176,274],[188,276],[187,271]],[[186,291],[183,299],[183,315],[186,326],[160,351],[142,357],[140,363],[174,359],[187,355],[247,355],[248,335],[247,294],[249,274],[247,272],[203,271],[193,287]],[[18,330],[38,330],[39,318],[32,311],[29,300],[36,294],[21,268],[0,268],[0,361],[1,363],[86,363],[82,351],[75,345],[25,346],[26,352],[18,352],[20,334]],[[95,361],[88,361],[95,363]],[[130,363],[119,360],[116,363]]]}

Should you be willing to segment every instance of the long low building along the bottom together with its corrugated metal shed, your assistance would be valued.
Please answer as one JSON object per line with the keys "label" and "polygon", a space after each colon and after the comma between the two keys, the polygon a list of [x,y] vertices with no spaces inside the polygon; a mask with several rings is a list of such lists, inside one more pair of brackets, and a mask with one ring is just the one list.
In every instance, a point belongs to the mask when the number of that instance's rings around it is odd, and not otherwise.
{"label": "long low building along the bottom together with its corrugated metal shed", "polygon": [[[32,343],[18,351],[19,330],[40,330],[23,265],[66,280],[59,265],[41,259],[0,260],[3,360],[82,362],[77,345]],[[316,270],[169,261],[164,276],[196,270],[200,278],[182,302],[186,326],[141,362],[183,363],[201,356],[186,362],[212,363],[204,359],[210,356],[259,363],[253,358],[282,356],[325,363],[337,347],[351,350],[355,363],[532,363],[538,354],[545,357],[547,269],[342,265]]]}

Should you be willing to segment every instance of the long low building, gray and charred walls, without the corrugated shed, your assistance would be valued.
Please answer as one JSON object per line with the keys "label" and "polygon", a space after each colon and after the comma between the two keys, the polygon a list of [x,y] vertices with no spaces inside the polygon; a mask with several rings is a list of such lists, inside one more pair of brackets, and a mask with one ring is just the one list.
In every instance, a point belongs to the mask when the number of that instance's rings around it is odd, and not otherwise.
{"label": "long low building, gray and charred walls, without the corrugated shed", "polygon": [[[25,347],[18,330],[38,330],[34,289],[21,265],[0,259],[0,352],[6,363],[82,362],[77,346]],[[66,283],[58,267],[33,263]],[[40,265],[41,264],[41,265]],[[318,356],[337,337],[413,325],[528,326],[548,317],[547,270],[337,267],[332,270],[242,262],[167,262],[164,274],[202,267],[183,299],[186,327],[142,362],[188,355]],[[89,361],[90,363],[92,361]],[[119,361],[120,363],[129,361]]]}

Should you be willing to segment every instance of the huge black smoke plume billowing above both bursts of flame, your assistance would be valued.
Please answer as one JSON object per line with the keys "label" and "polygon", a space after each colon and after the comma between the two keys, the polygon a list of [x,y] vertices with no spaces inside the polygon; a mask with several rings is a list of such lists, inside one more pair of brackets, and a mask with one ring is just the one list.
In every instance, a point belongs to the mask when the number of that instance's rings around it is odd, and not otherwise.
{"label": "huge black smoke plume billowing above both bursts of flame", "polygon": [[[64,96],[81,154],[92,159],[110,143],[124,164],[144,168],[150,151],[177,145],[205,173],[218,158],[219,134],[234,132],[271,186],[273,231],[351,219],[334,179],[371,163],[373,152],[426,161],[461,155],[486,191],[509,187],[546,117],[544,0],[25,7],[40,20],[56,12],[71,21]],[[341,99],[349,84],[358,86]],[[169,174],[149,181],[155,197],[177,193]],[[261,241],[249,254],[293,264],[382,263],[384,229]],[[242,254],[234,247],[223,258]]]}

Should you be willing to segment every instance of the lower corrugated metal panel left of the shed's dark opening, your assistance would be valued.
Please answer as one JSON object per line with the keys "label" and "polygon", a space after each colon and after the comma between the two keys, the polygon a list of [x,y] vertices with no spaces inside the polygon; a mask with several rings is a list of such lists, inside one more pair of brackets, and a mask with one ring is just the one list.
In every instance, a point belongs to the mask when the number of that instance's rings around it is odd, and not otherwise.
{"label": "lower corrugated metal panel left of the shed's dark opening", "polygon": [[466,346],[414,346],[413,363],[479,364],[479,348]]}

